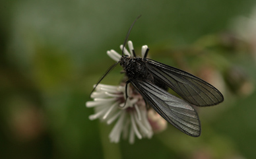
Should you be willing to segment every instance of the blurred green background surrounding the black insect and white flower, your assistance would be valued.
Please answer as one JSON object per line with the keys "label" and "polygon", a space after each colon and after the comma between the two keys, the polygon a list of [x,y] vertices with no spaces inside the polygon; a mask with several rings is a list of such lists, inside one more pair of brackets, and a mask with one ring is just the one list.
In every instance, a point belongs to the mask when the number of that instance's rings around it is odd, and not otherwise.
{"label": "blurred green background surrounding the black insect and white flower", "polygon": [[[0,158],[254,158],[255,7],[253,0],[1,0]],[[106,51],[119,51],[138,15],[129,38],[137,53],[146,44],[152,59],[224,93],[224,103],[198,109],[201,137],[168,125],[152,139],[113,144],[113,125],[88,119],[92,85],[114,63]],[[102,83],[119,84],[120,70]]]}

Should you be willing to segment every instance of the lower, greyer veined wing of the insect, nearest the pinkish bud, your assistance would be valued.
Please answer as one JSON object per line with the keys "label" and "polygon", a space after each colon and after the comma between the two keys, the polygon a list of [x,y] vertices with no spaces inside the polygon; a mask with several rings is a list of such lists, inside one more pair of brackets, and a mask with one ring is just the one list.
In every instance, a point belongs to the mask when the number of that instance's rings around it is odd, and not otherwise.
{"label": "lower, greyer veined wing of the insect, nearest the pinkish bud", "polygon": [[187,135],[199,137],[201,134],[199,117],[189,103],[148,81],[130,79],[130,82],[166,121]]}

